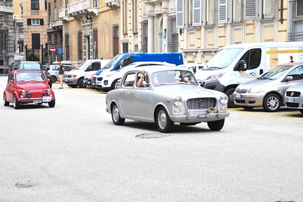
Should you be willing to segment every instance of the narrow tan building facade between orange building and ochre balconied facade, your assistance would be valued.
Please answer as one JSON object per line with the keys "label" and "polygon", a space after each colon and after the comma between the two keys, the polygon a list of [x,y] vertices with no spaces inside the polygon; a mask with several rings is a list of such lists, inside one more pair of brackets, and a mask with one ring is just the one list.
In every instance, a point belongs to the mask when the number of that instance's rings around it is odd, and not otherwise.
{"label": "narrow tan building facade between orange building and ochre balconied facade", "polygon": [[[47,50],[48,64],[53,64],[55,61],[64,60],[63,53],[58,53],[58,48],[63,49],[63,24],[59,17],[59,11],[63,9],[63,0],[47,0]],[[49,49],[56,48],[55,53],[51,53]]]}

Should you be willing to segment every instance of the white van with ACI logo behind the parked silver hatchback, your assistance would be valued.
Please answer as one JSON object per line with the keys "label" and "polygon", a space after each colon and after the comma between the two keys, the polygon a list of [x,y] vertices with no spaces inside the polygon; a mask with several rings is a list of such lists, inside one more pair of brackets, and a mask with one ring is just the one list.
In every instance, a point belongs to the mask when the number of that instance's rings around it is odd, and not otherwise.
{"label": "white van with ACI logo behind the parked silver hatchback", "polygon": [[195,77],[201,86],[224,92],[228,107],[235,108],[232,93],[236,87],[255,79],[281,63],[303,62],[303,42],[242,43],[220,48]]}

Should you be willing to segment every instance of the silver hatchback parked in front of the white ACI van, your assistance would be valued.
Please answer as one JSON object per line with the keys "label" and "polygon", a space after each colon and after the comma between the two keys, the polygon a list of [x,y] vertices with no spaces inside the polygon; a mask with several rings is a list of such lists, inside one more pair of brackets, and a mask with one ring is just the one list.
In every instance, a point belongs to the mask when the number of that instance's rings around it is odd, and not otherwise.
{"label": "silver hatchback parked in front of the white ACI van", "polygon": [[261,76],[237,86],[233,93],[234,104],[246,110],[263,107],[277,112],[284,105],[286,90],[303,81],[303,62],[277,65]]}

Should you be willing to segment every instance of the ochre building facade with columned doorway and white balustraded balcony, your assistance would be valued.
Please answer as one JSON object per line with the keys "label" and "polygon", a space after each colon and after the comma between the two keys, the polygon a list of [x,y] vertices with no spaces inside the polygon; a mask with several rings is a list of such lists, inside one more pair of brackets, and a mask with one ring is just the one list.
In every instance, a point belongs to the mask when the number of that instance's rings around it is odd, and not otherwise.
{"label": "ochre building facade with columned doorway and white balustraded balcony", "polygon": [[88,59],[111,59],[119,53],[119,1],[66,0],[59,17],[64,56],[75,66]]}

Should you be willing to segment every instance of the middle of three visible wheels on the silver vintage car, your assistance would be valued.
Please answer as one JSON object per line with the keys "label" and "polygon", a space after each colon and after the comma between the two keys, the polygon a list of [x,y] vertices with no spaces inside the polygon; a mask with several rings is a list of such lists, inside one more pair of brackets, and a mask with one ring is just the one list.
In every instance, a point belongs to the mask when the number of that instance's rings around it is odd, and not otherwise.
{"label": "middle of three visible wheels on the silver vintage car", "polygon": [[156,124],[160,132],[168,133],[172,131],[174,122],[169,118],[164,107],[160,107],[156,114]]}

